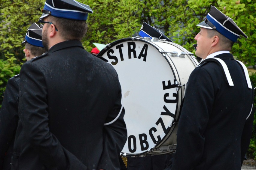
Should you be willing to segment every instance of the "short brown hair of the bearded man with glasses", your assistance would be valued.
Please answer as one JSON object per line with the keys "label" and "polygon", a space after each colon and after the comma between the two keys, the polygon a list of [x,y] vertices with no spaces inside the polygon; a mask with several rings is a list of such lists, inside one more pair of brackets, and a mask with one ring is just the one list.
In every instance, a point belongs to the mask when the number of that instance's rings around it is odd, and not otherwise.
{"label": "short brown hair of the bearded man with glasses", "polygon": [[86,21],[57,18],[51,15],[47,17],[50,22],[56,24],[60,36],[65,40],[81,40],[87,32]]}

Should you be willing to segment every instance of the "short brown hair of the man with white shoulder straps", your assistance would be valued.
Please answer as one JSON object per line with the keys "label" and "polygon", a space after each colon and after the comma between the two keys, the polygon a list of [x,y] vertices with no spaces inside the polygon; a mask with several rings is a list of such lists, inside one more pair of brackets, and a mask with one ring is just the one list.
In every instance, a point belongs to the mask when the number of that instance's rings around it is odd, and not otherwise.
{"label": "short brown hair of the man with white shoulder straps", "polygon": [[227,37],[225,37],[224,35],[222,35],[218,31],[213,30],[213,29],[207,29],[207,33],[208,33],[207,36],[209,38],[211,38],[215,35],[217,35],[219,37],[220,46],[222,47],[223,50],[230,51],[232,49],[232,46],[233,46],[234,42],[229,40]]}

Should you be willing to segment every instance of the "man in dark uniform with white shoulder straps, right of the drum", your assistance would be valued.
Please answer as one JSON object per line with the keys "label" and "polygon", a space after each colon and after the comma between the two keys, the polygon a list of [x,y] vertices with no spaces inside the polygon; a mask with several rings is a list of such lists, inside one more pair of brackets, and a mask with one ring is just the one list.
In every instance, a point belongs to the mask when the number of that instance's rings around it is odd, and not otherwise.
{"label": "man in dark uniform with white shoulder straps, right of the drum", "polygon": [[169,169],[240,170],[251,138],[254,88],[230,50],[247,36],[214,6],[197,26],[194,46],[203,61],[186,85]]}

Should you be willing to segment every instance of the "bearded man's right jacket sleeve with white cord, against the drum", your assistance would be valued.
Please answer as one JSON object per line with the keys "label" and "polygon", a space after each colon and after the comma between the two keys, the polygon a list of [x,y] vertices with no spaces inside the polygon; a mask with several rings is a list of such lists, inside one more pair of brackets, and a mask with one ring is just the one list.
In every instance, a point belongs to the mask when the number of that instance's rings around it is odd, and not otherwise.
{"label": "bearded man's right jacket sleeve with white cord, against the drum", "polygon": [[[120,169],[120,152],[127,139],[126,124],[123,120],[124,108],[121,105],[121,87],[118,82],[118,96],[103,130],[103,152],[99,161],[98,169]],[[107,168],[107,169],[106,169]]]}

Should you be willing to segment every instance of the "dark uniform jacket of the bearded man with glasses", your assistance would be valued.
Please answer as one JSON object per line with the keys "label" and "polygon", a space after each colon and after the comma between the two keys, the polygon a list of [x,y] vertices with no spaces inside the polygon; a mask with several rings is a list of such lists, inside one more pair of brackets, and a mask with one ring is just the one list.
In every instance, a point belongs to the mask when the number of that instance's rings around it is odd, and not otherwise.
{"label": "dark uniform jacket of the bearded man with glasses", "polygon": [[127,138],[120,102],[114,68],[78,40],[26,62],[12,169],[120,169]]}

